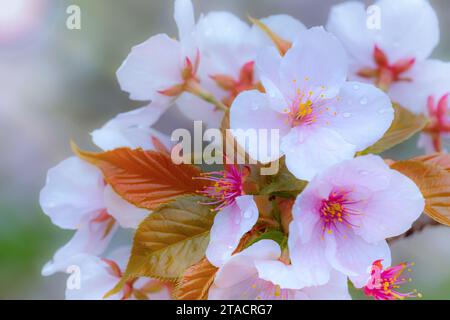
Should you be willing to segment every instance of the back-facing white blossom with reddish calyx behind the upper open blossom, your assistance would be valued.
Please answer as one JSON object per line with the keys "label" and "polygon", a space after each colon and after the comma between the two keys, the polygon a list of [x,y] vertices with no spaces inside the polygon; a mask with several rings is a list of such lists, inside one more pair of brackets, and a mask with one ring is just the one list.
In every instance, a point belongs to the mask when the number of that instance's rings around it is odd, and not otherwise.
{"label": "back-facing white blossom with reddish calyx behind the upper open blossom", "polygon": [[[261,22],[287,41],[293,41],[306,29],[288,15],[270,16]],[[254,70],[257,52],[274,45],[259,27],[249,27],[228,12],[211,12],[199,19],[193,37],[201,60],[197,77],[202,87],[226,106],[240,92],[259,88]],[[189,92],[182,94],[177,104],[188,118],[205,121],[210,126],[218,127],[223,116],[222,110]]]}

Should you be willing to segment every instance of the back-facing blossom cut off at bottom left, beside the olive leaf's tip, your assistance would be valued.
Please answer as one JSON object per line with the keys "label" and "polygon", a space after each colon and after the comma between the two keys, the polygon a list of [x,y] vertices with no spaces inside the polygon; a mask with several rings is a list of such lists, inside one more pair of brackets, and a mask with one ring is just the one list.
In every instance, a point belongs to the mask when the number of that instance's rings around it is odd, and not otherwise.
{"label": "back-facing blossom cut off at bottom left, beside the olive leaf's tip", "polygon": [[[128,261],[130,248],[116,249],[110,258],[82,254],[73,259],[74,269],[67,281],[67,300],[102,300],[120,280]],[[161,282],[150,278],[138,278],[126,283],[121,292],[107,298],[108,300],[134,299],[170,299],[170,291]]]}

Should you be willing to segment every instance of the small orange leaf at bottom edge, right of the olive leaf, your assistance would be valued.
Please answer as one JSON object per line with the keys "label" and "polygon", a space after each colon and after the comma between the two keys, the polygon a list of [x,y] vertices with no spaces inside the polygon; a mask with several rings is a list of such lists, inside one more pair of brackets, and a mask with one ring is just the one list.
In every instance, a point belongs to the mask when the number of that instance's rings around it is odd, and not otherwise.
{"label": "small orange leaf at bottom edge, right of the olive leaf", "polygon": [[178,300],[206,300],[217,268],[206,258],[188,268],[174,291]]}

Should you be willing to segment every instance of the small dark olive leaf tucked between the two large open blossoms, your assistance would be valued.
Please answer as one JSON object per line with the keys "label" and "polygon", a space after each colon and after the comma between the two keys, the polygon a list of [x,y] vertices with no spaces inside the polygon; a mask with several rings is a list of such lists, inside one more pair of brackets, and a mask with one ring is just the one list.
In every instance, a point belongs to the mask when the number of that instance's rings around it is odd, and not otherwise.
{"label": "small dark olive leaf tucked between the two large open blossoms", "polygon": [[308,183],[299,180],[286,166],[280,163],[280,170],[274,176],[268,176],[265,185],[260,190],[260,195],[277,195],[283,198],[290,198],[297,196],[305,189]]}

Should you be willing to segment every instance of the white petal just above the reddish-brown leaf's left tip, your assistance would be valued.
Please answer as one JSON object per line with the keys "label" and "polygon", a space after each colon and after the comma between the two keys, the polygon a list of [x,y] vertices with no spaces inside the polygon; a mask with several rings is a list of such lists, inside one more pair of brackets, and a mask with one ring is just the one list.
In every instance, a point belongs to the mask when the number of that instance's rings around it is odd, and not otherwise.
{"label": "white petal just above the reddish-brown leaf's left tip", "polygon": [[101,129],[92,132],[92,140],[105,151],[121,147],[154,150],[152,137],[155,137],[170,149],[169,138],[151,128],[168,107],[169,105],[152,103],[146,107],[121,113]]}

